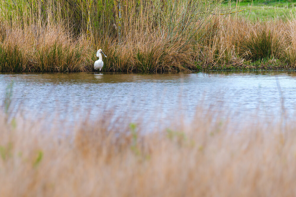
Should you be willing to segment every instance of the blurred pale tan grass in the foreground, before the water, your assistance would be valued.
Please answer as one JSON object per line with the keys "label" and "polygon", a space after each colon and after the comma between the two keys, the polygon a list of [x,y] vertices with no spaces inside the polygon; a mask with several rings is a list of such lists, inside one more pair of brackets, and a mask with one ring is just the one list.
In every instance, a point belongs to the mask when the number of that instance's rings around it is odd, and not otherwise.
{"label": "blurred pale tan grass in the foreground, before the water", "polygon": [[[203,118],[202,118],[203,117]],[[0,124],[0,196],[291,196],[295,124],[194,121],[141,133],[102,115],[70,135],[44,131],[44,119]],[[116,121],[115,121],[116,122]]]}

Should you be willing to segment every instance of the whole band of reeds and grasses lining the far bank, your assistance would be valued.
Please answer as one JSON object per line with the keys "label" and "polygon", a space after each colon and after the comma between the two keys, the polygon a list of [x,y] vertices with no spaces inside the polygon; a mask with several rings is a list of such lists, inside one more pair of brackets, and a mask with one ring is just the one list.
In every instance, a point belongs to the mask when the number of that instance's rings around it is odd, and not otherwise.
{"label": "whole band of reeds and grasses lining the far bank", "polygon": [[[295,70],[293,13],[254,21],[230,7],[195,0],[2,1],[0,72],[94,71],[99,48],[108,56],[104,72]],[[223,15],[229,12],[235,13]]]}

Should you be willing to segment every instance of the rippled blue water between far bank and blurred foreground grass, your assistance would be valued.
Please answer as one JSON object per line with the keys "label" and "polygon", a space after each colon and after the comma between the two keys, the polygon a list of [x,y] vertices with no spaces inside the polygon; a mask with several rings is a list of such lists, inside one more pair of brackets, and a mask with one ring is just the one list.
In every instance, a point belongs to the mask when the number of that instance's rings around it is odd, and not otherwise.
{"label": "rippled blue water between far bank and blurred foreground grass", "polygon": [[197,107],[237,118],[294,116],[296,73],[190,72],[173,74],[0,74],[0,106],[13,84],[10,114],[75,122],[102,113],[136,121],[184,116]]}

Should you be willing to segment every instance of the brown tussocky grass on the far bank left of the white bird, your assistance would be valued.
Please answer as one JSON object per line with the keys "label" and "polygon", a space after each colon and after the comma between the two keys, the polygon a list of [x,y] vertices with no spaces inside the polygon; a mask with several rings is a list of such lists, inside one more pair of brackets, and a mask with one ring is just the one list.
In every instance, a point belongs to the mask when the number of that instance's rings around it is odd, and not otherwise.
{"label": "brown tussocky grass on the far bank left of the white bird", "polygon": [[84,38],[73,40],[62,27],[21,29],[4,25],[1,37],[2,72],[86,71],[89,57]]}

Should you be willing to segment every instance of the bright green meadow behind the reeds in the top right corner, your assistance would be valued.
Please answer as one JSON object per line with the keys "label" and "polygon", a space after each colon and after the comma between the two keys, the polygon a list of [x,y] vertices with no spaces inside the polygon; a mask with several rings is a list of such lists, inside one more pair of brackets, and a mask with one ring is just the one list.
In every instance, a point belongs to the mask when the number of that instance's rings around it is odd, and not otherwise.
{"label": "bright green meadow behind the reeds in the top right corner", "polygon": [[228,1],[224,6],[231,7],[235,11],[236,7],[245,9],[239,12],[239,15],[251,20],[271,20],[271,19],[287,19],[291,18],[291,14],[295,16],[296,1]]}

